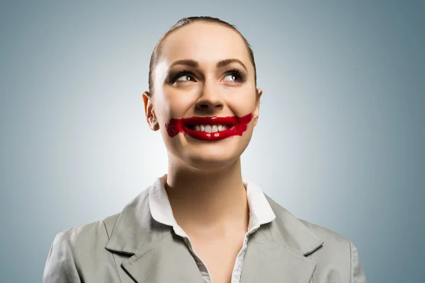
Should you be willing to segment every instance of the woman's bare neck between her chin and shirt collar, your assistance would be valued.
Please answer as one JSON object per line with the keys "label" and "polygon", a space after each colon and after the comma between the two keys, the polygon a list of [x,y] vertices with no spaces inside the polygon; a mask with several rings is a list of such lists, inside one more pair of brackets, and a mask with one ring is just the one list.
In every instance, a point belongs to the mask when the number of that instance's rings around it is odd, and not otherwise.
{"label": "woman's bare neck between her chin and shirt collar", "polygon": [[240,158],[208,173],[169,162],[166,192],[174,218],[186,233],[227,236],[246,232],[249,206]]}

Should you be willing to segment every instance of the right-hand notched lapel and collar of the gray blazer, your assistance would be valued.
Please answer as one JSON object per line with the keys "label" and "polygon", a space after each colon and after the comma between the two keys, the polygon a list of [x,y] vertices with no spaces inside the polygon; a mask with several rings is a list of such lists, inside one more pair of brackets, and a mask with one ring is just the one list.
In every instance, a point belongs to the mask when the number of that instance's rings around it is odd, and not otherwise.
{"label": "right-hand notched lapel and collar of the gray blazer", "polygon": [[310,282],[317,263],[306,255],[314,253],[324,241],[300,219],[265,196],[276,219],[261,225],[249,237],[241,283]]}

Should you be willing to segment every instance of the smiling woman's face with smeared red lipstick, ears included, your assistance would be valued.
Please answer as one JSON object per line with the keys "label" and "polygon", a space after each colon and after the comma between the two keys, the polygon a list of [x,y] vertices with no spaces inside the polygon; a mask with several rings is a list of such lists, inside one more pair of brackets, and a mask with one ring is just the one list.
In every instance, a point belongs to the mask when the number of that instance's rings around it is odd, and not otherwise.
{"label": "smiling woman's face with smeared red lipstick, ears included", "polygon": [[154,93],[144,100],[149,126],[160,130],[170,158],[207,171],[229,165],[248,146],[259,117],[244,40],[214,23],[175,30],[154,69]]}

